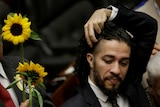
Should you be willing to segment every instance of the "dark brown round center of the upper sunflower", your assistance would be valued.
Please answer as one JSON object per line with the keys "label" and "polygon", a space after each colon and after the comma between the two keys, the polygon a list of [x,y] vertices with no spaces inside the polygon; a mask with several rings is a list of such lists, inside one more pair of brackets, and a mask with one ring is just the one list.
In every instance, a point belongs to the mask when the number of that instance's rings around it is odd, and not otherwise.
{"label": "dark brown round center of the upper sunflower", "polygon": [[12,35],[14,35],[14,36],[21,35],[21,34],[22,34],[22,25],[17,24],[17,23],[14,23],[14,24],[11,26],[11,33],[12,33]]}

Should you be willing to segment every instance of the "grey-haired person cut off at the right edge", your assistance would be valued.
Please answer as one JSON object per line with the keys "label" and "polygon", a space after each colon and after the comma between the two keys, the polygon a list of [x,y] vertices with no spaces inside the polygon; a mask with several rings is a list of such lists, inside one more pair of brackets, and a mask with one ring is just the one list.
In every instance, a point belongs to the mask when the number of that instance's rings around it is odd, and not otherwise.
{"label": "grey-haired person cut off at the right edge", "polygon": [[160,52],[150,58],[147,65],[148,77],[146,88],[150,107],[160,107]]}

